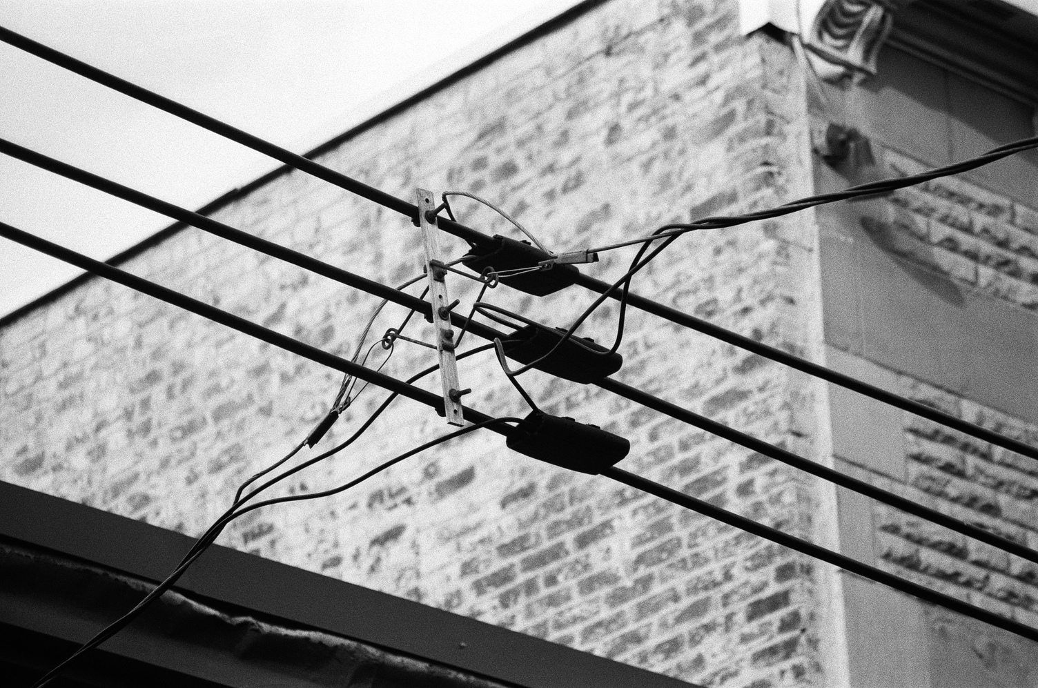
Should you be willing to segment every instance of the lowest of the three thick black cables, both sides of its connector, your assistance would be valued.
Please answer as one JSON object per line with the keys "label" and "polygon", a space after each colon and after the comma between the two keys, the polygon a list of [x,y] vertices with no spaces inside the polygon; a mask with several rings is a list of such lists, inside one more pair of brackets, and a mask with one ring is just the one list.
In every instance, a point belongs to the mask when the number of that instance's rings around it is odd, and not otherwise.
{"label": "lowest of the three thick black cables, both sides of its connector", "polygon": [[[305,345],[301,341],[292,339],[277,332],[273,332],[264,328],[262,326],[255,325],[246,321],[244,319],[238,318],[227,313],[219,308],[215,308],[208,304],[201,303],[190,297],[177,294],[171,290],[149,282],[148,280],[136,277],[135,275],[130,275],[117,268],[109,266],[107,264],[101,263],[100,260],[94,260],[87,256],[81,255],[72,251],[71,249],[58,246],[46,240],[33,237],[27,232],[20,229],[16,229],[10,225],[0,222],[0,236],[16,241],[29,248],[36,249],[43,253],[47,253],[59,259],[76,265],[84,270],[89,270],[94,274],[98,274],[112,281],[118,282],[131,288],[140,291],[149,296],[154,296],[163,301],[167,301],[173,305],[177,305],[182,308],[195,312],[203,318],[212,320],[214,322],[226,325],[233,329],[236,329],[244,334],[256,337],[263,341],[267,341],[279,348],[285,349],[292,353],[298,354],[304,358],[313,360],[315,362],[328,365],[329,367],[342,370],[344,373],[353,373],[357,378],[361,380],[370,380],[374,384],[390,389],[394,392],[400,392],[404,396],[418,401],[427,406],[431,406],[434,409],[442,408],[442,400],[436,396],[432,392],[427,392],[425,390],[412,387],[407,383],[401,382],[394,378],[384,376],[382,374],[377,374],[374,370],[363,368],[355,363],[338,358],[331,354],[326,354],[319,349]],[[357,370],[357,368],[360,368]],[[355,371],[356,370],[356,371]],[[464,409],[465,418],[471,422],[483,423],[489,420],[493,420],[490,416],[484,413],[475,411],[473,409]],[[490,430],[497,432],[502,435],[510,435],[509,432],[503,431],[500,428],[495,428],[493,425],[488,426]],[[757,534],[765,540],[777,543],[785,547],[789,547],[809,556],[819,558],[836,566],[843,567],[848,571],[856,573],[865,578],[890,585],[896,589],[908,593],[914,597],[918,597],[927,602],[943,606],[947,609],[957,611],[966,616],[971,616],[978,621],[991,624],[998,628],[1005,629],[1022,637],[1031,640],[1038,640],[1038,629],[1033,629],[1017,622],[1009,618],[1005,618],[998,614],[994,614],[986,609],[981,609],[980,607],[975,607],[973,605],[966,604],[959,600],[956,600],[947,595],[936,593],[929,588],[926,588],[917,583],[909,582],[903,578],[895,576],[893,574],[886,573],[875,567],[855,561],[849,557],[842,554],[838,554],[823,547],[809,543],[799,538],[783,533],[774,528],[756,523],[749,519],[738,516],[726,510],[718,508],[712,504],[708,504],[702,500],[695,499],[676,490],[666,488],[665,486],[653,483],[647,478],[634,475],[622,469],[610,467],[602,472],[603,475],[610,477],[620,483],[630,485],[638,490],[643,490],[650,494],[662,497],[676,504],[685,506],[686,508],[692,508],[693,511],[699,511],[702,514],[720,520],[725,523],[735,525],[738,528],[746,530],[753,534]],[[253,504],[255,506],[255,504]]]}

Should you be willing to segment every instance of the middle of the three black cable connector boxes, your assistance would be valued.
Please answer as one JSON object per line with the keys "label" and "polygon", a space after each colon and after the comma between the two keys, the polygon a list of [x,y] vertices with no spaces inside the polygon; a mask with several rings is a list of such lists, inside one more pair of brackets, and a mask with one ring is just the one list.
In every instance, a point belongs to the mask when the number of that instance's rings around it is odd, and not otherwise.
{"label": "middle of the three black cable connector boxes", "polygon": [[[504,342],[504,355],[520,363],[535,363],[543,370],[571,382],[592,384],[608,378],[624,364],[624,357],[586,337],[570,337],[554,349],[566,330],[527,325]],[[554,349],[554,353],[544,358]],[[543,359],[543,360],[541,360]]]}

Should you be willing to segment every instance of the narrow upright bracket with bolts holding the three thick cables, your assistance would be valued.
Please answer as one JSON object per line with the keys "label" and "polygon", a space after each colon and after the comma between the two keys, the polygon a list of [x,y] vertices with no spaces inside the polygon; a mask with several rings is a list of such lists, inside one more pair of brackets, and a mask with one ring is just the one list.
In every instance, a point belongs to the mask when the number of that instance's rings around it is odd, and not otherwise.
{"label": "narrow upright bracket with bolts holding the three thick cables", "polygon": [[[440,358],[440,381],[443,383],[443,410],[447,422],[464,426],[461,396],[458,382],[458,361],[455,359],[455,332],[450,329],[450,313],[447,297],[446,268],[440,260],[438,241],[439,227],[436,224],[436,197],[432,191],[417,189],[418,226],[426,246],[426,275],[429,278],[429,299],[433,304],[433,325],[436,327],[436,351]],[[443,310],[441,310],[443,309]],[[444,318],[445,315],[445,318]]]}

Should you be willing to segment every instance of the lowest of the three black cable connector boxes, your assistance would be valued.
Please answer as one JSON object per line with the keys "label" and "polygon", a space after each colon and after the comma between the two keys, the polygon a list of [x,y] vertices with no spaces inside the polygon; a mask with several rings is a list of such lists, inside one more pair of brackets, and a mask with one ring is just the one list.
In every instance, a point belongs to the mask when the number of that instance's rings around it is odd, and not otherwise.
{"label": "lowest of the three black cable connector boxes", "polygon": [[631,450],[625,438],[598,425],[540,411],[523,418],[506,443],[527,457],[592,475],[620,462]]}

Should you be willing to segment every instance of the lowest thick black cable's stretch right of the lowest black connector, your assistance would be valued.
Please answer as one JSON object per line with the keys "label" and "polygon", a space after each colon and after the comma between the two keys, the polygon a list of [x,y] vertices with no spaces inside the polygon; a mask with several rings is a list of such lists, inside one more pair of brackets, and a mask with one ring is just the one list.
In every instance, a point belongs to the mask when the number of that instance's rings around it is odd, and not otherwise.
{"label": "lowest thick black cable's stretch right of the lowest black connector", "polygon": [[721,523],[727,523],[728,525],[734,526],[740,530],[744,530],[759,538],[763,538],[764,540],[776,543],[783,547],[788,547],[789,549],[800,552],[801,554],[807,554],[812,558],[820,559],[836,567],[840,567],[841,569],[845,569],[846,571],[863,578],[893,587],[901,593],[906,593],[914,598],[923,600],[924,602],[929,602],[937,605],[938,607],[944,607],[945,609],[950,609],[960,613],[964,616],[969,616],[971,618],[976,618],[977,621],[984,622],[985,624],[990,624],[991,626],[1009,631],[1010,633],[1015,633],[1016,635],[1029,640],[1038,641],[1038,629],[1025,626],[1019,622],[1015,622],[1011,618],[1007,618],[1006,616],[990,612],[987,609],[982,609],[966,602],[962,602],[961,600],[957,600],[948,595],[937,593],[936,590],[932,590],[928,587],[920,585],[919,583],[913,583],[909,580],[901,578],[900,576],[887,573],[882,569],[863,563],[844,554],[834,552],[832,550],[810,543],[805,540],[801,540],[800,538],[790,535],[782,530],[771,528],[743,516],[739,516],[738,514],[733,514],[732,512],[720,508],[719,506],[714,506],[713,504],[703,501],[702,499],[696,499],[695,497],[686,495],[683,492],[672,490],[666,486],[625,471],[622,468],[612,466],[602,471],[602,475],[610,477],[618,483],[632,487],[635,490],[640,490],[641,492],[659,497],[660,499],[665,499],[673,504],[698,512],[704,516],[720,521]]}

